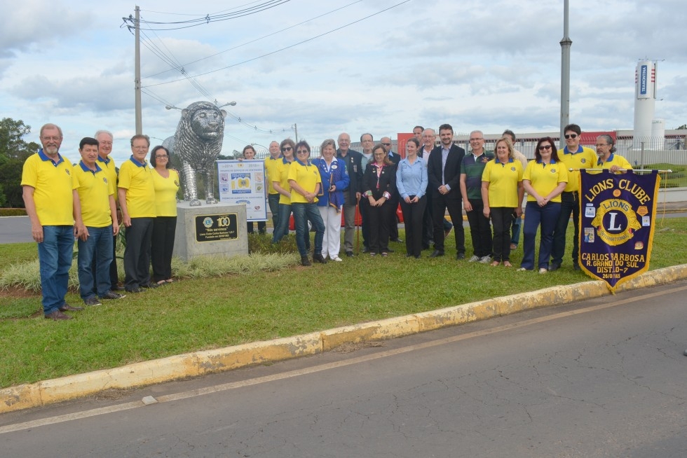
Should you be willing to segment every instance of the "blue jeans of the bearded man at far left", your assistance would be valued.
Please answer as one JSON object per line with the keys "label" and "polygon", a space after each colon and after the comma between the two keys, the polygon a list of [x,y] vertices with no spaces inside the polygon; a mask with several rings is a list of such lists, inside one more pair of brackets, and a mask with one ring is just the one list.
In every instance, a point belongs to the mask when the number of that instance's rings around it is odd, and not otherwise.
{"label": "blue jeans of the bearded man at far left", "polygon": [[44,225],[38,258],[43,293],[43,313],[50,314],[64,305],[69,286],[69,268],[74,253],[74,226]]}

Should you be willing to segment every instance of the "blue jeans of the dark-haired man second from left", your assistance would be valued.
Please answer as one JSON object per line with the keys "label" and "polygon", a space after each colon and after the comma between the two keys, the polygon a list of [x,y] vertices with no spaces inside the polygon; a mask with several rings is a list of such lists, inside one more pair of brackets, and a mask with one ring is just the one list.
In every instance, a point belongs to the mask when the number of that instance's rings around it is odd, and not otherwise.
{"label": "blue jeans of the dark-haired man second from left", "polygon": [[[87,300],[94,296],[93,286],[95,282],[95,291],[97,295],[102,297],[111,289],[110,284],[110,263],[112,262],[112,226],[107,225],[104,228],[88,229],[88,239],[86,242],[79,239],[79,294],[81,299]],[[91,264],[95,257],[95,279],[93,278],[93,270]]]}

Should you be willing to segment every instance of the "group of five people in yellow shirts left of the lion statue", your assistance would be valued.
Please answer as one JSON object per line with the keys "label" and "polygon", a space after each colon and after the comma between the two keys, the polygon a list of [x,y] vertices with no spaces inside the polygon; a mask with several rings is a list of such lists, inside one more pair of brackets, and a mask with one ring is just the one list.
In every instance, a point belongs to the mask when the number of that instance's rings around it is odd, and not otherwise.
{"label": "group of five people in yellow shirts left of the lion statue", "polygon": [[[148,161],[150,140],[145,135],[131,138],[131,157],[118,175],[109,158],[111,132],[99,130],[81,139],[81,160],[75,164],[60,154],[62,139],[57,125],[41,127],[41,148],[26,160],[21,182],[38,244],[43,314],[53,320],[71,319],[64,312],[83,310],[65,300],[75,237],[79,294],[85,305],[124,298],[119,291],[139,293],[173,281],[179,190],[169,151],[156,146]],[[126,241],[123,286],[118,284],[115,252],[121,222]]]}

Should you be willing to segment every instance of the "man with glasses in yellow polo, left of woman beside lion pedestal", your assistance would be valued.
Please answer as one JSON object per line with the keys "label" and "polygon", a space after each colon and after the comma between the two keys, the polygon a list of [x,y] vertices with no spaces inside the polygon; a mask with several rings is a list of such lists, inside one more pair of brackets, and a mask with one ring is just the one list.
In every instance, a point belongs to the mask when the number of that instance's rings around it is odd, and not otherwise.
{"label": "man with glasses in yellow polo, left of woman beside lion pedestal", "polygon": [[156,288],[150,281],[150,242],[155,218],[155,187],[146,162],[150,148],[147,135],[131,137],[131,157],[119,168],[117,190],[125,227],[124,289],[140,293]]}

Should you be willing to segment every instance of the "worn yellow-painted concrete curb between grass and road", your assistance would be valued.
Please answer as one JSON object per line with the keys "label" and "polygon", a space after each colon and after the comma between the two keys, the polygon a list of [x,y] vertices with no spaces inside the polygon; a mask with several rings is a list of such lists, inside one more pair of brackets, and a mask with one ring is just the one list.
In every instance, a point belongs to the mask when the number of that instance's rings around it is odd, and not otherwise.
{"label": "worn yellow-painted concrete curb between grass and road", "polygon": [[[687,279],[687,265],[653,270],[618,286],[617,291],[632,291]],[[0,389],[0,413],[39,407],[69,399],[92,396],[105,389],[130,389],[185,377],[233,370],[255,364],[272,363],[309,354],[327,352],[345,343],[386,340],[403,335],[457,326],[507,314],[609,296],[604,282],[590,281],[503,298],[447,307],[405,317],[334,328],[234,347],[192,352],[168,358],[143,361],[120,368],[69,375],[55,380]],[[141,401],[143,402],[143,401]]]}

